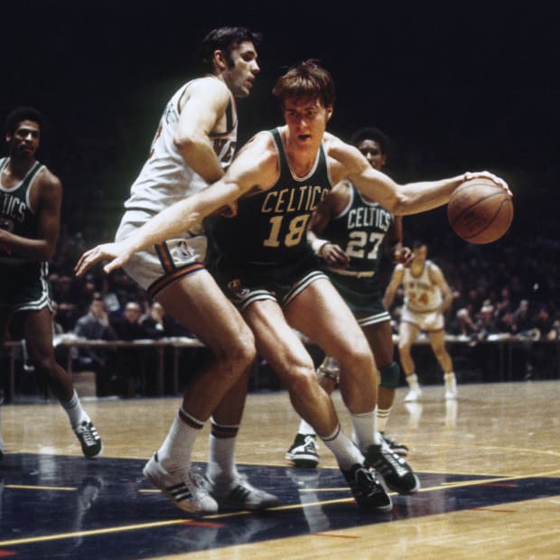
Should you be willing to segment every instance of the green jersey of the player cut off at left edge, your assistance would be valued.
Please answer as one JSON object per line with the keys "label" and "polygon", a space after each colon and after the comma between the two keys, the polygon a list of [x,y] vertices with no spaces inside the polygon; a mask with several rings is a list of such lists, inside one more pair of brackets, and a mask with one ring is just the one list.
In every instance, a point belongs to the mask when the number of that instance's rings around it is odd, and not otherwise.
{"label": "green jersey of the player cut off at left edge", "polygon": [[[0,173],[4,171],[8,162],[7,157],[0,159]],[[29,193],[41,168],[42,164],[35,162],[23,181],[11,189],[5,189],[0,184],[0,228],[23,238],[37,238],[37,217],[31,208]],[[0,264],[23,265],[28,262],[30,261],[24,257],[3,253],[0,250]]]}

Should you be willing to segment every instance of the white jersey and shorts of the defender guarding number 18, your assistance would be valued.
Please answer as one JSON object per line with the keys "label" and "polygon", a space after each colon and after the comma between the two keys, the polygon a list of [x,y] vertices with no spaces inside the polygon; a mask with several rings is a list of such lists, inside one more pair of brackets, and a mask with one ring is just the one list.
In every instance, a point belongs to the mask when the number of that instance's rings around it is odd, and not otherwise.
{"label": "white jersey and shorts of the defender guarding number 18", "polygon": [[[214,75],[193,79],[183,84],[170,99],[155,133],[148,159],[125,202],[126,212],[117,230],[117,241],[127,238],[173,202],[181,201],[208,186],[204,177],[183,157],[182,151],[186,146],[181,147],[176,137],[181,131],[182,108],[207,89],[223,89],[217,93],[225,97],[222,100],[222,103],[226,103],[225,109],[219,122],[208,133],[208,142],[220,169],[225,171],[228,168],[236,148],[238,116],[233,93],[219,82],[219,78]],[[197,166],[196,163],[194,165]],[[215,170],[213,173],[219,175],[220,172]],[[209,176],[206,173],[203,175]],[[168,239],[136,254],[125,270],[154,297],[170,282],[200,270],[205,252],[206,237],[199,225],[196,229],[185,230],[179,238]]]}

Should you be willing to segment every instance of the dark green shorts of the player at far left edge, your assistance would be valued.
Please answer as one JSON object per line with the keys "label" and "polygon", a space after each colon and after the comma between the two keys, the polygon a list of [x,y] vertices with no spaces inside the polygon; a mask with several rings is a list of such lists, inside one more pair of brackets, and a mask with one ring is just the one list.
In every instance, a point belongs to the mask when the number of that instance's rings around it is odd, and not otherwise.
{"label": "dark green shorts of the player at far left edge", "polygon": [[51,309],[52,289],[47,263],[0,266],[2,303],[13,313]]}

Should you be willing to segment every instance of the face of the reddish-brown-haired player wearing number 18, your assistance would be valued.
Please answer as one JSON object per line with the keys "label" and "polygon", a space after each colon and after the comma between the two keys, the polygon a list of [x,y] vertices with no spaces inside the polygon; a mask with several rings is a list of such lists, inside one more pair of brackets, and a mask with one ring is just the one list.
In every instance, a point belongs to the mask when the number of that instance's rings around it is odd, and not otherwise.
{"label": "face of the reddish-brown-haired player wearing number 18", "polygon": [[331,114],[332,108],[323,107],[319,99],[285,99],[284,118],[290,141],[301,147],[321,143]]}

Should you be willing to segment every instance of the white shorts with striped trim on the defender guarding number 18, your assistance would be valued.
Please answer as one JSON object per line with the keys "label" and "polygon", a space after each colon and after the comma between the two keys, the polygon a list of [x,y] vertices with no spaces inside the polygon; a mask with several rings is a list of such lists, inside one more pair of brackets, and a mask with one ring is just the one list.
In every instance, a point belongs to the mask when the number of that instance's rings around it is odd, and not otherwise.
{"label": "white shorts with striped trim on the defender guarding number 18", "polygon": [[[141,228],[153,214],[143,210],[127,210],[117,229],[116,241],[127,238]],[[125,272],[152,297],[164,287],[204,269],[207,238],[202,228],[186,231],[184,237],[164,241],[139,251],[124,266]]]}

